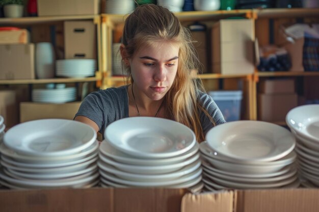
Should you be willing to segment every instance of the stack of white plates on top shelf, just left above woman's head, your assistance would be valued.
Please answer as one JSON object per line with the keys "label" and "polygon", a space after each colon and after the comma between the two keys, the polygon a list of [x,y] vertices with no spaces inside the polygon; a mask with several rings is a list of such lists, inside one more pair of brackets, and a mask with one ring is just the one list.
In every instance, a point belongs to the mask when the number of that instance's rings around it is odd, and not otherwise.
{"label": "stack of white plates on top shelf, just left above woman's head", "polygon": [[105,13],[109,14],[128,14],[134,11],[134,0],[107,0],[105,2]]}

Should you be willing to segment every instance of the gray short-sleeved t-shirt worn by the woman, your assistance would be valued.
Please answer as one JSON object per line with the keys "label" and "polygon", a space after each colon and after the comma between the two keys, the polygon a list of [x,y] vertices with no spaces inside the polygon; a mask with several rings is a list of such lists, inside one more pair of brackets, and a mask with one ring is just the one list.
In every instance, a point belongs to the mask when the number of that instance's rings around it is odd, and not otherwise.
{"label": "gray short-sleeved t-shirt worn by the woman", "polygon": [[[210,96],[200,92],[203,107],[206,108],[216,125],[225,123],[225,119]],[[90,118],[99,128],[103,135],[105,128],[118,119],[128,117],[127,86],[98,90],[89,94],[82,102],[75,116],[82,115]],[[204,112],[201,111],[200,120],[204,135],[213,126]]]}

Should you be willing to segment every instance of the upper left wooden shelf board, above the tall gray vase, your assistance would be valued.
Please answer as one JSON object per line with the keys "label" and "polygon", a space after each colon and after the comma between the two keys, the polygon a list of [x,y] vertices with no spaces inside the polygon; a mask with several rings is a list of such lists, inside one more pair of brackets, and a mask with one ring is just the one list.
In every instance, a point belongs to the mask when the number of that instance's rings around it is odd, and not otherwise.
{"label": "upper left wooden shelf board, above the tall gray vase", "polygon": [[0,25],[36,24],[44,22],[56,22],[67,20],[92,20],[99,19],[99,15],[81,16],[43,16],[43,17],[21,17],[21,18],[0,18]]}

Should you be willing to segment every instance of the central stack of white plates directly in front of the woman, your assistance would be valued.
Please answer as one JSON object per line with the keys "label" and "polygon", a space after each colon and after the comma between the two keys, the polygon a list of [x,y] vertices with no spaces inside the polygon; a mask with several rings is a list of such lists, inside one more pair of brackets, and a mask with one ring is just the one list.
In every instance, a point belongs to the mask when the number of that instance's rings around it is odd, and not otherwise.
{"label": "central stack of white plates directly in front of the woman", "polygon": [[104,132],[102,187],[190,188],[199,191],[201,162],[194,132],[169,119],[130,117]]}

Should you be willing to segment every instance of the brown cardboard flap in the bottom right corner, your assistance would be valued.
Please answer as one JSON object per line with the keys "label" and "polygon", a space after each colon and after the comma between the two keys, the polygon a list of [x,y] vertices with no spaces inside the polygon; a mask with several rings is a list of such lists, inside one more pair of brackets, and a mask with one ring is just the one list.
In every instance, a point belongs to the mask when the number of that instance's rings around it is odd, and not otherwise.
{"label": "brown cardboard flap in the bottom right corner", "polygon": [[318,200],[318,189],[237,191],[234,212],[317,212]]}

